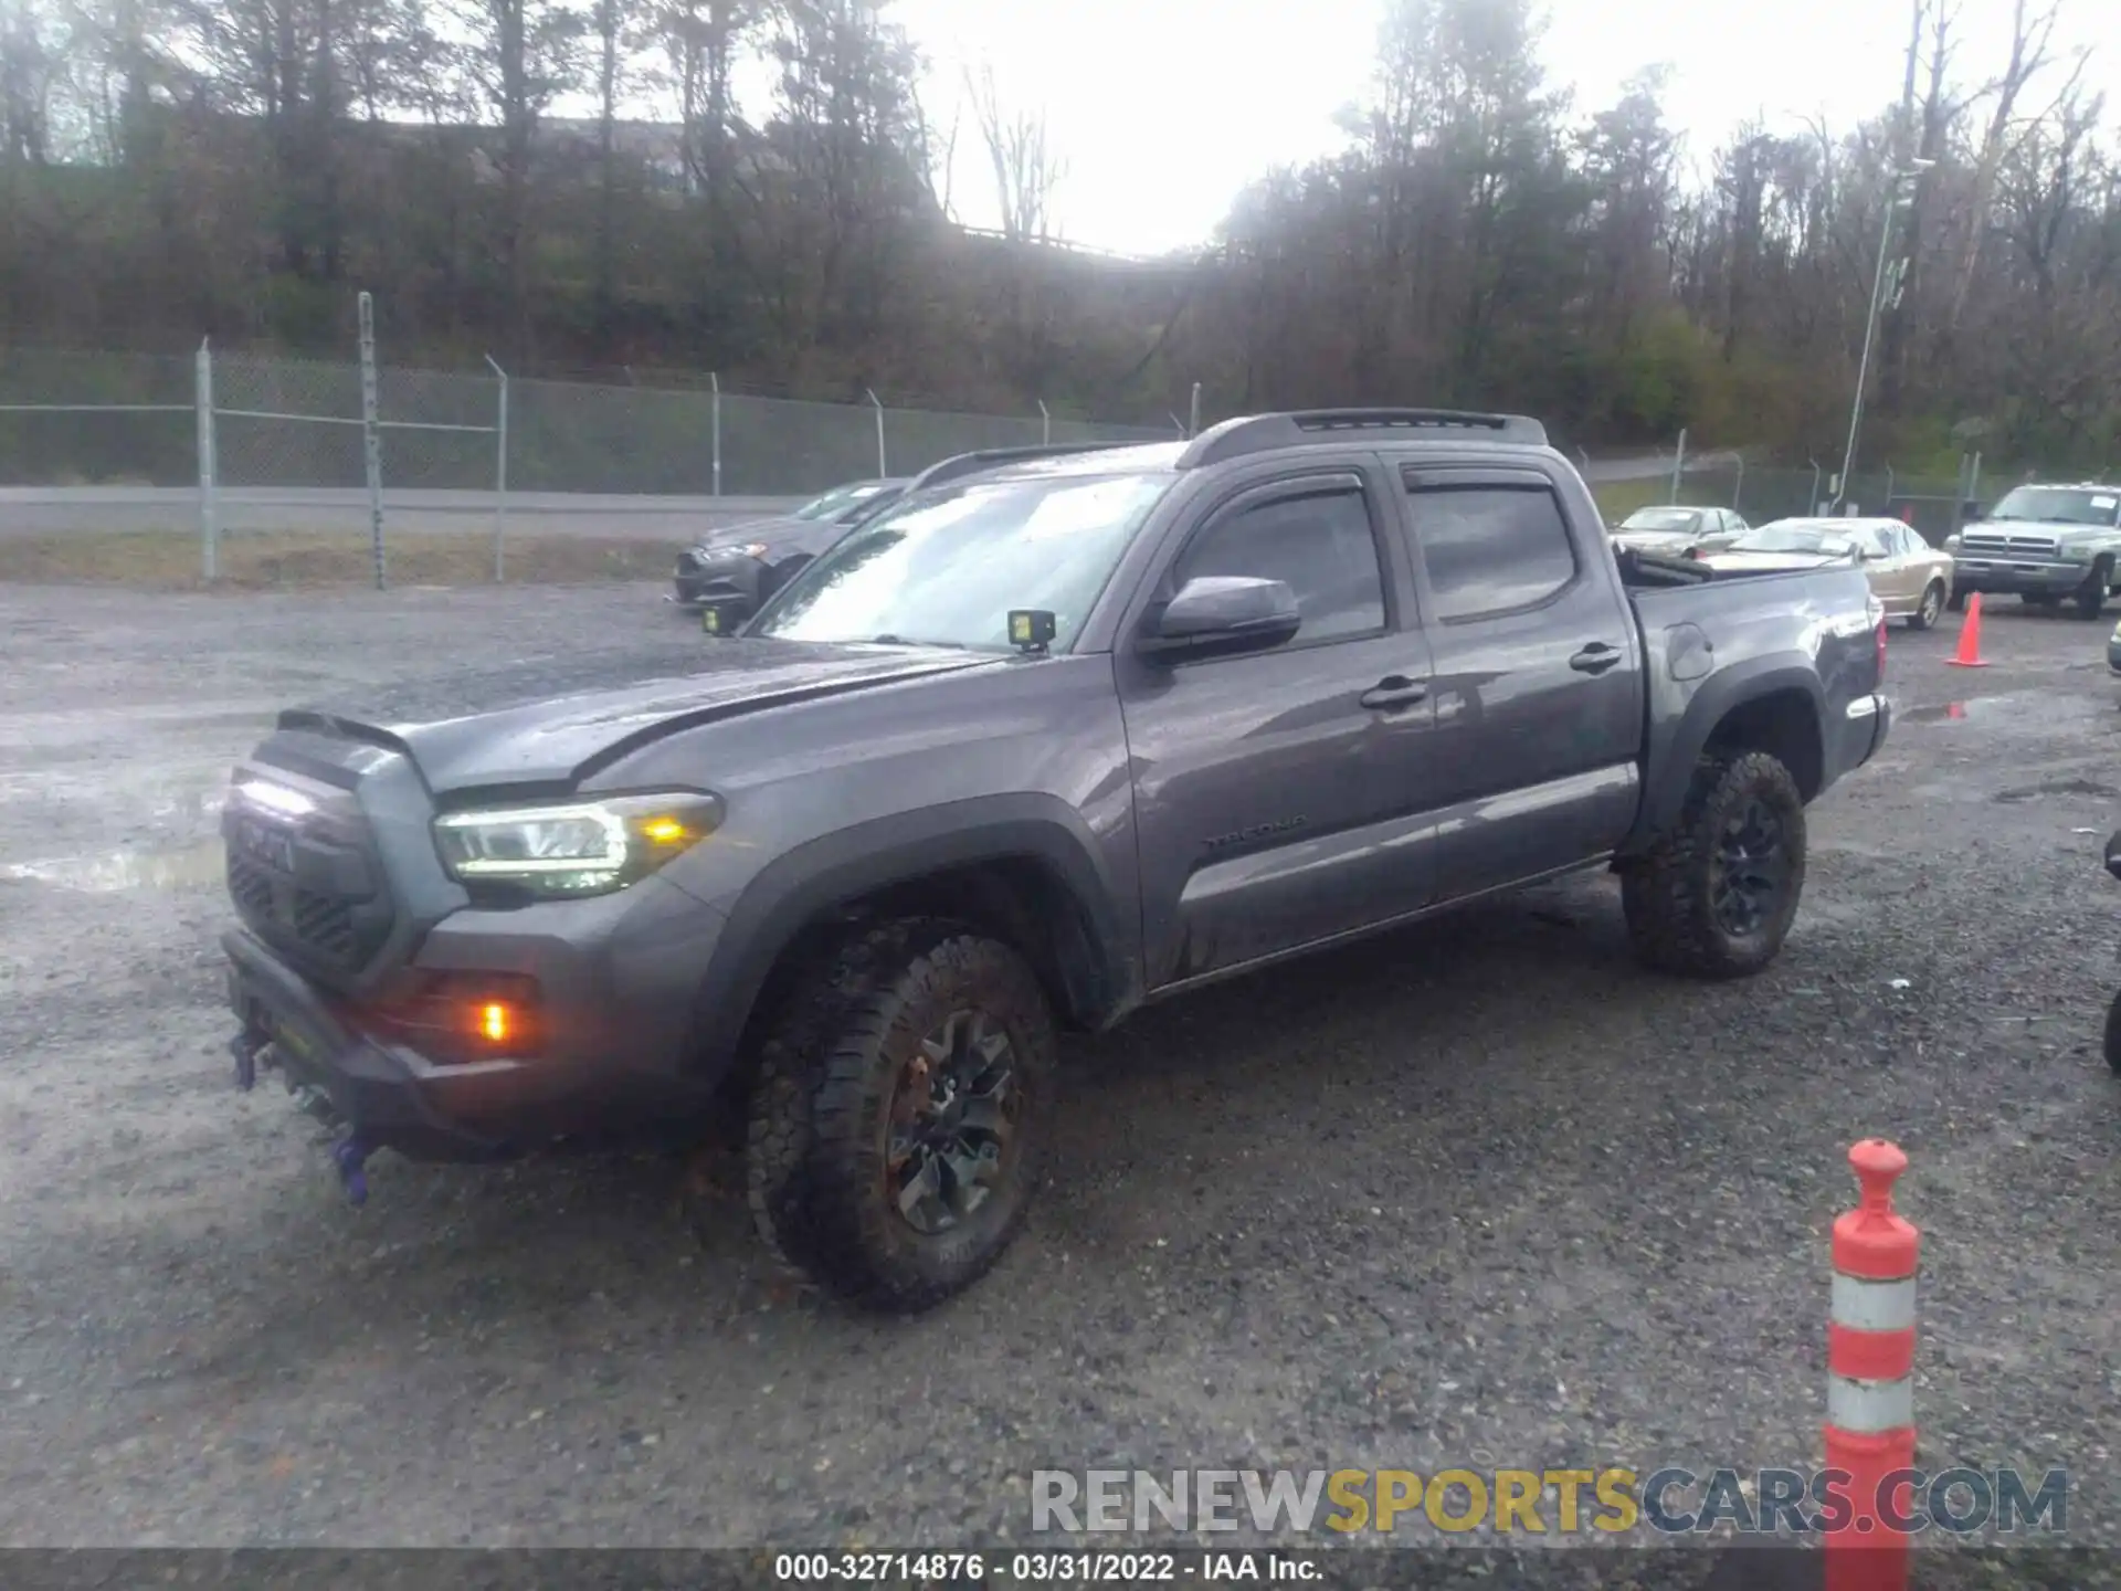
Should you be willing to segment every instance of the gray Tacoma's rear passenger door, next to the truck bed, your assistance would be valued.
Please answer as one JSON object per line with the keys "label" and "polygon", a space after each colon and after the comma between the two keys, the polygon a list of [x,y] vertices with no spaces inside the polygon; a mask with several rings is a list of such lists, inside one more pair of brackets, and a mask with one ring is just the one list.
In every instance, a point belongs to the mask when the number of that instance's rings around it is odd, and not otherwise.
{"label": "gray Tacoma's rear passenger door, next to the truck bed", "polygon": [[1610,853],[1644,740],[1633,609],[1531,467],[1402,469],[1436,668],[1440,897]]}

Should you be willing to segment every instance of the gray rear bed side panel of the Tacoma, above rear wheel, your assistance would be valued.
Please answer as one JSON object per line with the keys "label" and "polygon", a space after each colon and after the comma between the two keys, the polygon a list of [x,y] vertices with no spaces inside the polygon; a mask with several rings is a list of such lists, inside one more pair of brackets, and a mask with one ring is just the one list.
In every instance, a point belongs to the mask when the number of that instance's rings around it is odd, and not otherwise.
{"label": "gray rear bed side panel of the Tacoma, above rear wheel", "polygon": [[1701,749],[1746,702],[1769,694],[1809,702],[1820,766],[1811,796],[1871,753],[1875,730],[1862,709],[1881,679],[1871,581],[1860,569],[1714,579],[1633,598],[1648,655],[1648,762],[1625,849],[1669,827]]}

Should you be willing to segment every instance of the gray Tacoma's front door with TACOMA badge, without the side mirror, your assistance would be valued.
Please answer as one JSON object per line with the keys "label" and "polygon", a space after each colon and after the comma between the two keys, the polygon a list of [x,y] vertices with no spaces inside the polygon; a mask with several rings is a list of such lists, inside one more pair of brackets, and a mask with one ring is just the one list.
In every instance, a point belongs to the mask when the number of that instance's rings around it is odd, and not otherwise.
{"label": "gray Tacoma's front door with TACOMA badge, without the side mirror", "polygon": [[[1179,526],[1130,605],[1114,666],[1150,989],[1434,899],[1430,649],[1396,528],[1372,456],[1273,469]],[[1177,666],[1133,651],[1143,613],[1205,575],[1287,581],[1296,639]]]}

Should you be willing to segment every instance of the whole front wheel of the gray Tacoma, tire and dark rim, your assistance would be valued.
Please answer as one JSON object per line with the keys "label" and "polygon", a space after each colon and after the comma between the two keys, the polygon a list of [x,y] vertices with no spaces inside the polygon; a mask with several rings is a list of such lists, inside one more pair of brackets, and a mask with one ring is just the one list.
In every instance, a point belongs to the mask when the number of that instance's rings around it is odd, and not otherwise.
{"label": "whole front wheel of the gray Tacoma, tire and dark rim", "polygon": [[817,967],[751,1103],[751,1207],[789,1262],[910,1313],[1001,1258],[1044,1158],[1054,1027],[1022,957],[891,923]]}

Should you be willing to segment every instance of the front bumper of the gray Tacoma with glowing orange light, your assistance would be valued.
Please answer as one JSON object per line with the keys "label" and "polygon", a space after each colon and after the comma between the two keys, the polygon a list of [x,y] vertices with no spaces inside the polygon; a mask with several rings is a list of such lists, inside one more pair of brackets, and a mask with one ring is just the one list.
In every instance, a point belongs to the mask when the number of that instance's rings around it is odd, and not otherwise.
{"label": "front bumper of the gray Tacoma with glowing orange light", "polygon": [[683,931],[679,919],[651,912],[662,919],[649,925],[653,946],[643,936],[571,946],[539,931],[484,931],[481,914],[445,921],[411,974],[507,969],[539,991],[534,1044],[475,1059],[407,1035],[375,1006],[316,984],[248,929],[229,929],[221,946],[238,1018],[229,1046],[238,1084],[248,1088],[259,1067],[278,1069],[314,1116],[369,1150],[411,1160],[494,1160],[691,1120],[715,1092],[713,1078],[691,1067],[694,1001],[719,933],[719,916],[702,925],[702,912],[689,904]]}

